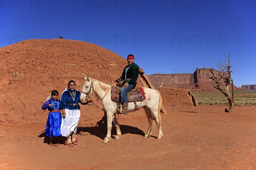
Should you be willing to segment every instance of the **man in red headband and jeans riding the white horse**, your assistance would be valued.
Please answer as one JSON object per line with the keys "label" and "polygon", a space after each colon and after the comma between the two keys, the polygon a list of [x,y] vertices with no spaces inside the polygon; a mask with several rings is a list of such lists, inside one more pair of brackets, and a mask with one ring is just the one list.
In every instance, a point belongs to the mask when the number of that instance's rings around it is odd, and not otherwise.
{"label": "man in red headband and jeans riding the white horse", "polygon": [[[127,56],[128,65],[124,68],[122,76],[119,79],[116,79],[115,82],[122,82],[122,88],[120,91],[121,103],[122,103],[122,113],[128,114],[128,99],[127,93],[131,89],[135,88],[137,85],[137,79],[139,76],[139,66],[134,63],[134,55],[129,54]],[[120,108],[117,108],[116,111],[120,112]]]}

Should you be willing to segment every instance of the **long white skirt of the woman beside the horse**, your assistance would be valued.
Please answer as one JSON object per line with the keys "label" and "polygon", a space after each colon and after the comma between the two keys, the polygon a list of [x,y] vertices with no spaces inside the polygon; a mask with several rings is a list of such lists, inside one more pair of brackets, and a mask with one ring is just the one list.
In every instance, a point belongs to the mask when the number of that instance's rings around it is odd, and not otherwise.
{"label": "long white skirt of the woman beside the horse", "polygon": [[71,133],[77,130],[77,125],[80,119],[80,109],[70,110],[65,109],[66,117],[61,118],[61,136],[70,136]]}

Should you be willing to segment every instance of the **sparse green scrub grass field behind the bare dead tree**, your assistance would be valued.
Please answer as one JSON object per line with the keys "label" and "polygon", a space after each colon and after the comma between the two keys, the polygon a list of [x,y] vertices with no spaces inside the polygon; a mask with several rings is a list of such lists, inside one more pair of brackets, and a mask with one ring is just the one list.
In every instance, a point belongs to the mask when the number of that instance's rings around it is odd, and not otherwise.
{"label": "sparse green scrub grass field behind the bare dead tree", "polygon": [[[221,92],[192,92],[201,105],[228,105],[227,98]],[[231,93],[231,91],[230,91]],[[256,91],[235,91],[236,106],[256,106]]]}

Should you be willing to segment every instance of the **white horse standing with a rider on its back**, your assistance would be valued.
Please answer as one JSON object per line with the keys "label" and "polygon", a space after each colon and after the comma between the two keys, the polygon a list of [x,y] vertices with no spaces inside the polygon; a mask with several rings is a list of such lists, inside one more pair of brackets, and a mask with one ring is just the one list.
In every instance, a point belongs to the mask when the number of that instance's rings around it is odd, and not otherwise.
{"label": "white horse standing with a rider on its back", "polygon": [[[104,139],[104,143],[108,143],[111,140],[111,127],[112,121],[114,126],[116,127],[116,138],[115,140],[119,140],[122,136],[121,130],[119,128],[119,124],[116,119],[116,108],[118,107],[118,103],[111,100],[111,85],[108,85],[104,82],[100,82],[99,80],[89,78],[87,76],[84,77],[85,82],[81,91],[80,102],[86,103],[88,98],[95,92],[99,99],[102,101],[103,108],[107,113],[107,128],[108,133]],[[162,97],[157,90],[153,90],[151,88],[143,87],[145,92],[145,99],[141,102],[137,102],[137,105],[140,108],[144,108],[146,116],[148,118],[148,131],[145,134],[145,138],[151,135],[152,128],[154,127],[155,122],[158,125],[158,136],[157,139],[161,139],[163,137],[162,127],[161,127],[161,116],[160,109],[162,107]],[[135,108],[134,102],[128,103],[128,112],[134,112],[137,109]]]}

